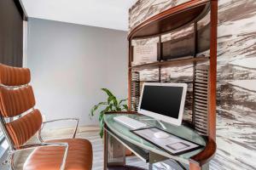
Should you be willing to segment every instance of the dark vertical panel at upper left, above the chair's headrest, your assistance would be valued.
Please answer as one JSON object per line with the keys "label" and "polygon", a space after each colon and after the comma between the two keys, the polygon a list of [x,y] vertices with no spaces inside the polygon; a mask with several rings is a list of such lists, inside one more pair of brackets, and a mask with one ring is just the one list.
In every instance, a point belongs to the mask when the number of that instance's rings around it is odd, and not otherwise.
{"label": "dark vertical panel at upper left, above the chair's headrest", "polygon": [[23,13],[17,1],[0,1],[0,62],[5,65],[22,66]]}

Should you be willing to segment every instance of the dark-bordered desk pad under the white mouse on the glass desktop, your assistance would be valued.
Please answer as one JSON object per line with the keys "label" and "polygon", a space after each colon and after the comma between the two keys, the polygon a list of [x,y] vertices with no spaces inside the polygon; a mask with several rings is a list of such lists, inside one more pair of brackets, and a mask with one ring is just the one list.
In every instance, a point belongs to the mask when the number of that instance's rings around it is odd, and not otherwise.
{"label": "dark-bordered desk pad under the white mouse on the glass desktop", "polygon": [[166,139],[157,139],[154,137],[154,133],[160,132],[161,130],[155,127],[136,130],[139,136],[144,139],[148,139],[152,143],[159,145],[161,148],[170,151],[172,154],[183,152],[186,150],[191,150],[200,146],[199,144],[194,144],[184,139],[180,139],[177,136],[170,134],[170,137]]}

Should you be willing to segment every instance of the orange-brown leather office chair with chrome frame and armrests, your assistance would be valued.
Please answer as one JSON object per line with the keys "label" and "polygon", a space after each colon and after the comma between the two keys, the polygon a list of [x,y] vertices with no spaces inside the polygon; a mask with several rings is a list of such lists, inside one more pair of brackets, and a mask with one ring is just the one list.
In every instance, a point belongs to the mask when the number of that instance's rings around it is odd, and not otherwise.
{"label": "orange-brown leather office chair with chrome frame and armrests", "polygon": [[[90,170],[92,166],[92,147],[86,139],[74,139],[79,124],[78,119],[59,119],[55,121],[77,121],[73,139],[44,141],[41,129],[47,122],[36,104],[30,82],[30,71],[26,68],[0,64],[0,118],[1,127],[9,142],[9,163],[14,169],[14,154],[20,150],[35,149],[23,166],[25,170]],[[22,116],[22,115],[25,116]],[[9,118],[17,117],[15,121]],[[55,122],[49,121],[49,122]],[[39,144],[26,142],[38,133]]]}

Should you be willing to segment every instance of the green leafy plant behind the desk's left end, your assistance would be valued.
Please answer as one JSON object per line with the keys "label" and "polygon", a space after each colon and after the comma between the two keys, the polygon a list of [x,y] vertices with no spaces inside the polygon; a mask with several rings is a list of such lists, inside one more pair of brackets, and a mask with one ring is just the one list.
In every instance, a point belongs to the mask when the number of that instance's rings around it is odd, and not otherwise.
{"label": "green leafy plant behind the desk's left end", "polygon": [[96,115],[98,111],[100,113],[99,122],[100,122],[100,136],[103,136],[103,127],[104,127],[104,114],[108,111],[128,111],[128,106],[123,104],[127,99],[118,100],[107,88],[102,88],[102,91],[108,95],[107,101],[103,101],[94,105],[90,110],[90,118]]}

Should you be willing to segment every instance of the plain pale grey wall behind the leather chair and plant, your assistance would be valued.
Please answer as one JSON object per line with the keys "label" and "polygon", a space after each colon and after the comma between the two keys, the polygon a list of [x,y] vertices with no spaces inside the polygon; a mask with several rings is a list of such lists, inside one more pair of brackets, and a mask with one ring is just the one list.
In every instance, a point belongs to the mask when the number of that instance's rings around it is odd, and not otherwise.
{"label": "plain pale grey wall behind the leather chair and plant", "polygon": [[106,99],[100,88],[127,98],[126,31],[30,18],[26,66],[37,108],[47,120],[79,117],[97,123],[90,108]]}

